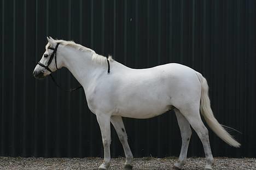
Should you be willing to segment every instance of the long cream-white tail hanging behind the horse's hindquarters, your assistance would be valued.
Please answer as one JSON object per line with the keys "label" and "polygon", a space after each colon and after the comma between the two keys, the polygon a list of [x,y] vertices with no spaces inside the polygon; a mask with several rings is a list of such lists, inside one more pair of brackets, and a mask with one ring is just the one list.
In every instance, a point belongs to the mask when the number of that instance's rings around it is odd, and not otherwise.
{"label": "long cream-white tail hanging behind the horse's hindquarters", "polygon": [[214,117],[211,109],[210,99],[208,96],[208,84],[205,79],[199,72],[196,72],[197,77],[199,78],[202,86],[201,92],[201,103],[200,111],[205,118],[206,123],[211,127],[211,129],[218,135],[224,142],[228,143],[232,147],[239,148],[240,143],[238,143],[225,129],[222,125],[219,124],[218,120]]}

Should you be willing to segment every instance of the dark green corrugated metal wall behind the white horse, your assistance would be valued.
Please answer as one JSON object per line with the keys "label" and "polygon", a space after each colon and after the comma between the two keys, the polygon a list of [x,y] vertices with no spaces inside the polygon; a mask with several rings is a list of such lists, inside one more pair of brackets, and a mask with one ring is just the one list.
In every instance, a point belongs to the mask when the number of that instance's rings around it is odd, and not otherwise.
{"label": "dark green corrugated metal wall behind the white horse", "polygon": [[[1,1],[0,155],[102,156],[100,129],[83,90],[61,92],[49,78],[32,76],[46,35],[74,40],[132,68],[170,62],[200,71],[210,85],[220,123],[242,132],[231,148],[210,132],[214,156],[256,156],[255,4],[246,1]],[[62,69],[63,87],[78,85]],[[124,118],[133,154],[178,156],[180,132],[173,112]],[[113,130],[113,129],[112,129]],[[112,156],[123,154],[112,132]],[[193,132],[189,156],[203,156]]]}

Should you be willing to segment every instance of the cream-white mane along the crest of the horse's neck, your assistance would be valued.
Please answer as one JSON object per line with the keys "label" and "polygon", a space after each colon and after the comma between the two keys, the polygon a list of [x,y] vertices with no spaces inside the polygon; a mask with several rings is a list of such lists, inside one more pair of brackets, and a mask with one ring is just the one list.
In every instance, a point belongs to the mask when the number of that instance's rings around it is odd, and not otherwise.
{"label": "cream-white mane along the crest of the horse's neck", "polygon": [[[100,54],[97,54],[94,50],[91,50],[90,48],[84,47],[80,44],[76,44],[74,41],[54,40],[54,43],[60,43],[63,46],[73,47],[79,51],[91,52],[92,60],[100,64],[104,64],[106,62],[106,57],[101,56]],[[46,44],[45,49],[47,49],[49,46],[50,46],[49,43]],[[108,60],[113,61],[112,56],[109,56]]]}

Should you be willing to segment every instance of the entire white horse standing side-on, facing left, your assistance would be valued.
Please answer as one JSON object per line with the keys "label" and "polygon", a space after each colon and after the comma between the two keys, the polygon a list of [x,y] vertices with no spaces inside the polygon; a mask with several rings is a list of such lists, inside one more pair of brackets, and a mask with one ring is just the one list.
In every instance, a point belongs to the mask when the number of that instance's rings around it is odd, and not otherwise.
{"label": "entire white horse standing side-on, facing left", "polygon": [[[122,117],[153,118],[171,109],[176,113],[182,136],[181,154],[173,169],[181,169],[187,160],[190,125],[205,150],[205,169],[212,169],[214,161],[208,130],[201,120],[200,111],[207,124],[223,141],[233,147],[240,147],[240,143],[214,118],[207,81],[199,72],[175,63],[149,69],[131,69],[73,41],[54,40],[50,37],[48,41],[33,75],[44,78],[51,71],[64,66],[82,84],[88,106],[96,114],[101,129],[104,160],[98,169],[109,169],[110,122],[123,144],[126,157],[124,169],[132,169],[133,156]],[[107,60],[110,64],[109,74]]]}

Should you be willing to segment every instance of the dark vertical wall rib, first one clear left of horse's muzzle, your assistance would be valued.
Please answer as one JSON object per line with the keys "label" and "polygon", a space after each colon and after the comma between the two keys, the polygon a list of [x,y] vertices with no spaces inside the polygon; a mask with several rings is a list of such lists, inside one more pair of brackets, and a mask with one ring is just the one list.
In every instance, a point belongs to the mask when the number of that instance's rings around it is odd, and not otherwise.
{"label": "dark vertical wall rib, first one clear left of horse's muzzle", "polygon": [[[27,68],[27,1],[24,1],[24,28],[23,28],[23,110],[22,110],[22,155],[26,156],[27,148],[26,148],[26,68]],[[37,56],[37,53],[36,55]]]}

